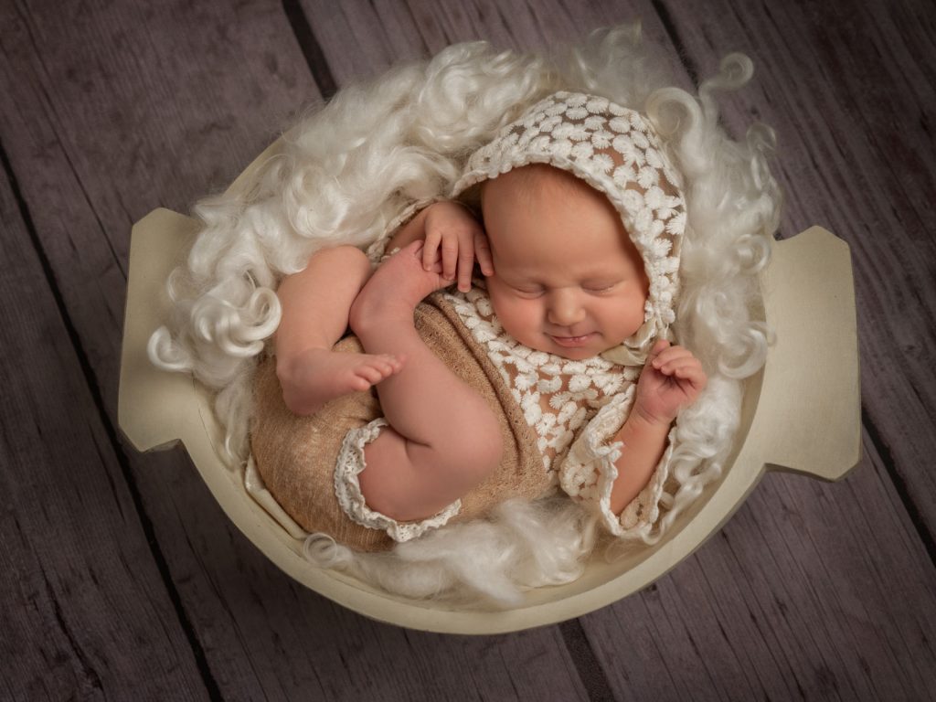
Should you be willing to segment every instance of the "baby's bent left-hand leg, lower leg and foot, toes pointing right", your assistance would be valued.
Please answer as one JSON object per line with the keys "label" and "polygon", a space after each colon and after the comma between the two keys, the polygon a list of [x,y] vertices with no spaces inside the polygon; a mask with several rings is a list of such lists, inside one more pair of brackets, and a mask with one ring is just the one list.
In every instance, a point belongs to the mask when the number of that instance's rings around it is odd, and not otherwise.
{"label": "baby's bent left-hand leg, lower leg and foot, toes pointing right", "polygon": [[276,374],[286,406],[296,414],[311,415],[329,400],[366,390],[402,367],[391,355],[331,350],[370,276],[367,256],[353,246],[338,246],[316,253],[304,271],[277,290],[283,316],[275,336]]}

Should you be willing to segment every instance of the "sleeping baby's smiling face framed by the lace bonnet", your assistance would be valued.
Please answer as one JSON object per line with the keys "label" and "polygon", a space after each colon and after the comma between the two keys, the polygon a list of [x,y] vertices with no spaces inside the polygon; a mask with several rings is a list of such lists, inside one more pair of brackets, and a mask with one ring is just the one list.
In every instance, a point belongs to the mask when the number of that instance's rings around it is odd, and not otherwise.
{"label": "sleeping baby's smiling face framed by the lace bonnet", "polygon": [[643,261],[607,197],[558,168],[516,168],[484,185],[494,274],[488,291],[521,344],[597,356],[640,329]]}

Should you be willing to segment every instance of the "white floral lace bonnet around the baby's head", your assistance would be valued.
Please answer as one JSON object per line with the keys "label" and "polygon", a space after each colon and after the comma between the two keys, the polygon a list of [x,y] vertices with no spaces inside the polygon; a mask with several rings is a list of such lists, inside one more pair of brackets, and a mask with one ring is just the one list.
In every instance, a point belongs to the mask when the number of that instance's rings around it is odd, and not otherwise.
{"label": "white floral lace bonnet around the baby's head", "polygon": [[680,239],[686,224],[680,176],[651,124],[604,97],[549,95],[468,159],[452,197],[512,168],[543,163],[563,168],[604,193],[643,257],[650,280],[644,324],[602,356],[642,364],[676,318]]}

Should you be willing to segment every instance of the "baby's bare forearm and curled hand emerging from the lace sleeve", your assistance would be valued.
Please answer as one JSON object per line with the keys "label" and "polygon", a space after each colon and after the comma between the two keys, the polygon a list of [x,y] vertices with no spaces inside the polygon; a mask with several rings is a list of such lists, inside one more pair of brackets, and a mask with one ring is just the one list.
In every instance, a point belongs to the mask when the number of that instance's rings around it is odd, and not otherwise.
{"label": "baby's bare forearm and curled hand emerging from the lace sleeve", "polygon": [[614,514],[621,514],[650,481],[663,456],[670,425],[705,386],[702,364],[688,349],[665,341],[654,344],[637,382],[631,414],[614,437],[623,444],[615,463],[618,478],[611,489]]}

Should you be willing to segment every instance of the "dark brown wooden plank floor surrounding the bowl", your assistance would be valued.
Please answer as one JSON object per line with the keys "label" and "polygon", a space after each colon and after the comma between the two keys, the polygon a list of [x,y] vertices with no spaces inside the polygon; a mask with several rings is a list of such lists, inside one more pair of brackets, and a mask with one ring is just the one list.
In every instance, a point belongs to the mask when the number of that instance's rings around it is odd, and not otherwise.
{"label": "dark brown wooden plank floor surrounding the bowl", "polygon": [[[507,636],[371,622],[286,578],[182,453],[117,428],[130,227],[290,117],[449,43],[639,18],[677,80],[728,51],[772,125],[781,235],[852,247],[865,459],[769,475],[644,592]],[[936,7],[873,0],[0,2],[0,699],[936,696]]]}

